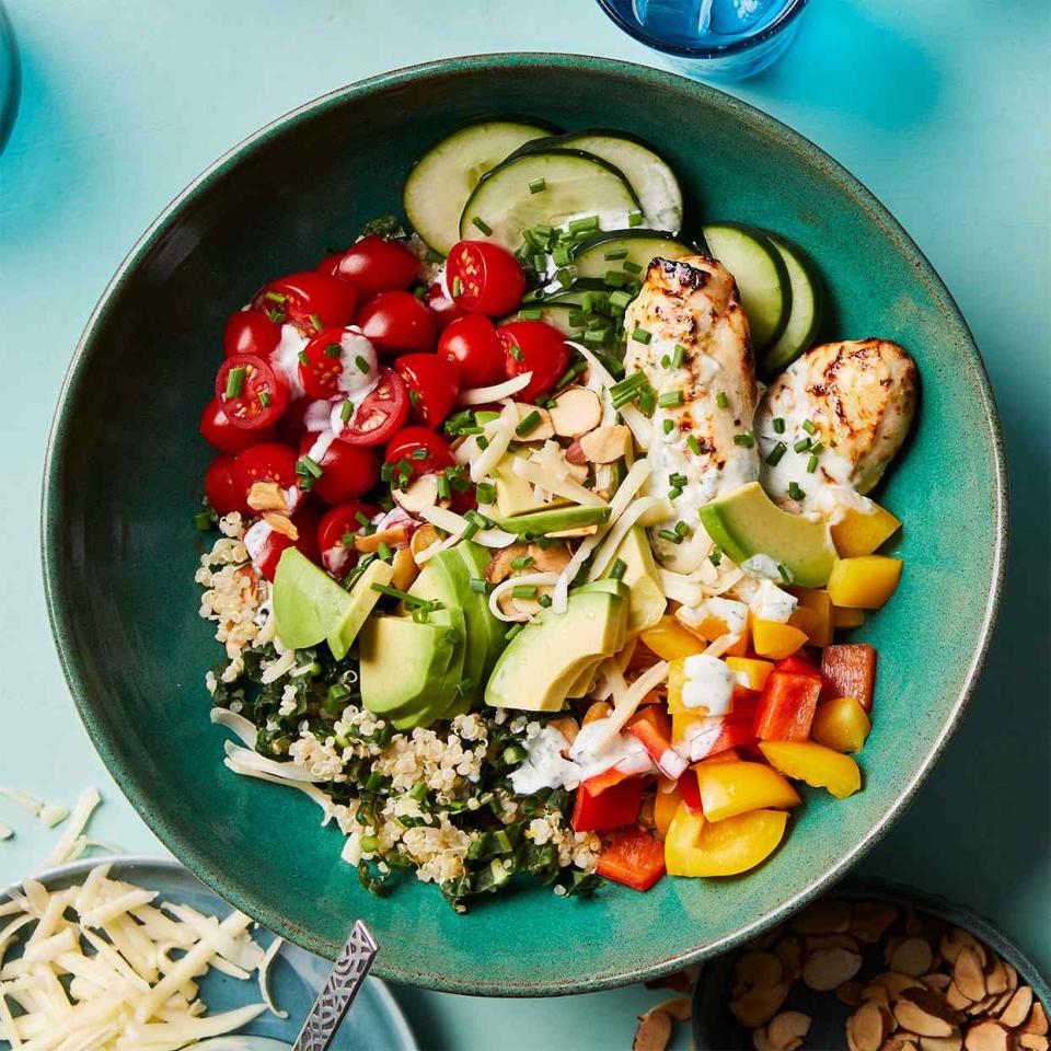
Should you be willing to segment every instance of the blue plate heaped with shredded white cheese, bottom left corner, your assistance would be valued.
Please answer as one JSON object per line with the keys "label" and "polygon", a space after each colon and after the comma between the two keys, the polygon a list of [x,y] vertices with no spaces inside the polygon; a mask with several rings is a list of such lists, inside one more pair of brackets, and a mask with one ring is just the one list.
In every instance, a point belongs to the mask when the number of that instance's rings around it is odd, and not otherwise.
{"label": "blue plate heaped with shredded white cheese, bottom left corner", "polygon": [[[0,1047],[290,1048],[330,967],[173,861],[80,861],[0,894]],[[377,979],[333,1043],[350,1048],[417,1049]]]}

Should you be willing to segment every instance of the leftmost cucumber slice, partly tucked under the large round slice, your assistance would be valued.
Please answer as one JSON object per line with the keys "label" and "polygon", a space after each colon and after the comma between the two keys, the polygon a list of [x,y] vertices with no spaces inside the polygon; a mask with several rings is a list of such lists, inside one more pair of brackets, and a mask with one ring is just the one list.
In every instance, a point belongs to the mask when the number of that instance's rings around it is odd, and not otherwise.
{"label": "leftmost cucumber slice, partly tucked under the large round slice", "polygon": [[405,180],[405,215],[442,255],[460,240],[460,215],[478,180],[532,139],[547,138],[541,124],[486,120],[462,128],[425,153]]}

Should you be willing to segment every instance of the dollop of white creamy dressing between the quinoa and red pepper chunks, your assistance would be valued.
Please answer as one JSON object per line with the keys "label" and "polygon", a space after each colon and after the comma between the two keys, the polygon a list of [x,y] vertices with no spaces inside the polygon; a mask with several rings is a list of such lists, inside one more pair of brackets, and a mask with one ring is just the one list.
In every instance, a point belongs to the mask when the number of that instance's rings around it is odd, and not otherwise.
{"label": "dollop of white creamy dressing between the quinoa and red pepper chunks", "polygon": [[[617,734],[604,748],[597,747],[605,737],[602,719],[580,728],[569,744],[557,727],[545,726],[526,741],[527,760],[511,772],[510,781],[520,795],[541,788],[576,788],[581,781],[615,766],[626,774],[645,774],[654,770],[652,760],[631,734]],[[569,758],[562,752],[568,749]]]}

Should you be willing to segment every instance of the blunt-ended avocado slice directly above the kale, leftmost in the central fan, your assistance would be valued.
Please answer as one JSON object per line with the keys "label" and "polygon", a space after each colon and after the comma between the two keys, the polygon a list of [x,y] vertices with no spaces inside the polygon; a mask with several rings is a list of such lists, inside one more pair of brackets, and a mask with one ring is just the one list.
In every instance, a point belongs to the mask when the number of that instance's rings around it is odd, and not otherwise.
{"label": "blunt-ended avocado slice directly above the kale, leftmost in the central fan", "polygon": [[370,617],[358,646],[361,703],[384,718],[418,711],[443,681],[455,649],[448,626],[434,615],[425,623]]}

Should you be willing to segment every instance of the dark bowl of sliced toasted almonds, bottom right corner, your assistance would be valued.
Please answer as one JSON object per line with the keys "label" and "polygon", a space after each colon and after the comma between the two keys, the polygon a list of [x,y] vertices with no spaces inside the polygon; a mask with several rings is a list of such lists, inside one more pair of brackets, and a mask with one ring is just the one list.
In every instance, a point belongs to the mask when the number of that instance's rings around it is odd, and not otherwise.
{"label": "dark bowl of sliced toasted almonds, bottom right corner", "polygon": [[1048,1051],[1051,989],[986,921],[847,883],[706,965],[697,1051]]}

